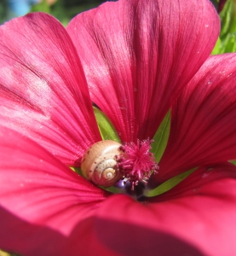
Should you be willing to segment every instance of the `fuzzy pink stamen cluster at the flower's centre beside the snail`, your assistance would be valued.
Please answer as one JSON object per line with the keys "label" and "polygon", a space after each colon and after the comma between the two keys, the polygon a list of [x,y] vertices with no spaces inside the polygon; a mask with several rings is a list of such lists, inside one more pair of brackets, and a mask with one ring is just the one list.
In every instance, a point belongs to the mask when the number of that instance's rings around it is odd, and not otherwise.
{"label": "fuzzy pink stamen cluster at the flower's centre beside the snail", "polygon": [[158,172],[158,164],[155,162],[153,153],[150,152],[153,140],[138,140],[137,143],[124,143],[120,150],[124,154],[117,156],[118,168],[131,183],[131,189],[134,190],[139,182],[147,184],[152,173]]}

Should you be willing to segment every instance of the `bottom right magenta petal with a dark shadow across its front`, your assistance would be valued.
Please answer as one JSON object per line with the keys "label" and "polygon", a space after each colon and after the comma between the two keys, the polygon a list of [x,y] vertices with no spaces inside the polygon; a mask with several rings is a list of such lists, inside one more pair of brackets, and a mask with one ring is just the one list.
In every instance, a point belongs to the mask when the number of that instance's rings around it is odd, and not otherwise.
{"label": "bottom right magenta petal with a dark shadow across its front", "polygon": [[178,197],[169,201],[110,197],[96,222],[101,243],[121,255],[235,255],[236,168],[225,166],[204,175],[199,172],[198,179],[216,178],[197,185],[188,179],[188,193],[176,188]]}

